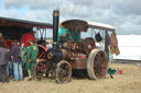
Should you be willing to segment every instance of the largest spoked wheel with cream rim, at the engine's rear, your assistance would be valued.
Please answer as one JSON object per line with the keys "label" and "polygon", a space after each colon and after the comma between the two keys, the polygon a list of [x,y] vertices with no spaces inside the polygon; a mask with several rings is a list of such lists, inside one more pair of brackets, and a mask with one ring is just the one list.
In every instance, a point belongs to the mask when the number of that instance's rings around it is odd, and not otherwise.
{"label": "largest spoked wheel with cream rim, at the engine's rear", "polygon": [[108,70],[108,57],[101,49],[93,49],[87,61],[87,71],[90,79],[102,79]]}

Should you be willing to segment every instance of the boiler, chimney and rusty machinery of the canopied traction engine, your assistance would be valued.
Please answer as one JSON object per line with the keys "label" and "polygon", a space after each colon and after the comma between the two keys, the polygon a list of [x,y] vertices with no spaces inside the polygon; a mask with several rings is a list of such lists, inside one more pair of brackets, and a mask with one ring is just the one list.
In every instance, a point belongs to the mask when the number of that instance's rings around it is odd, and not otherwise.
{"label": "boiler, chimney and rusty machinery of the canopied traction engine", "polygon": [[61,60],[74,61],[82,58],[85,60],[89,53],[96,47],[93,38],[88,37],[82,42],[72,42],[68,36],[58,36],[58,11],[53,14],[53,48],[46,51],[47,61],[59,62]]}

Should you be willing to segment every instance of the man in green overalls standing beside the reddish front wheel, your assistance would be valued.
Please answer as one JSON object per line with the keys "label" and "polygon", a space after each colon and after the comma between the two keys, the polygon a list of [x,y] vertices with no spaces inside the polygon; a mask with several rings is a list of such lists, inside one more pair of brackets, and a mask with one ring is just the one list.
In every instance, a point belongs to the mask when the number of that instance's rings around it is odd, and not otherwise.
{"label": "man in green overalls standing beside the reddish front wheel", "polygon": [[29,74],[29,80],[34,78],[34,63],[36,62],[36,58],[39,55],[39,47],[36,47],[35,40],[30,40],[30,46],[28,50],[28,62],[26,62],[26,70]]}

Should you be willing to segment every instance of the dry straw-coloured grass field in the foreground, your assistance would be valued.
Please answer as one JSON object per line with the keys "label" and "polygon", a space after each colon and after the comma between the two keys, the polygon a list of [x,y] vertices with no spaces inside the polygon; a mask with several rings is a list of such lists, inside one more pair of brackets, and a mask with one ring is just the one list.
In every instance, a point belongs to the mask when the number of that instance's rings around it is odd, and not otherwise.
{"label": "dry straw-coloured grass field in the foreground", "polygon": [[123,74],[115,74],[102,80],[72,79],[66,84],[57,84],[54,80],[10,81],[0,83],[0,93],[141,93],[141,67],[132,65],[109,65],[121,68]]}

